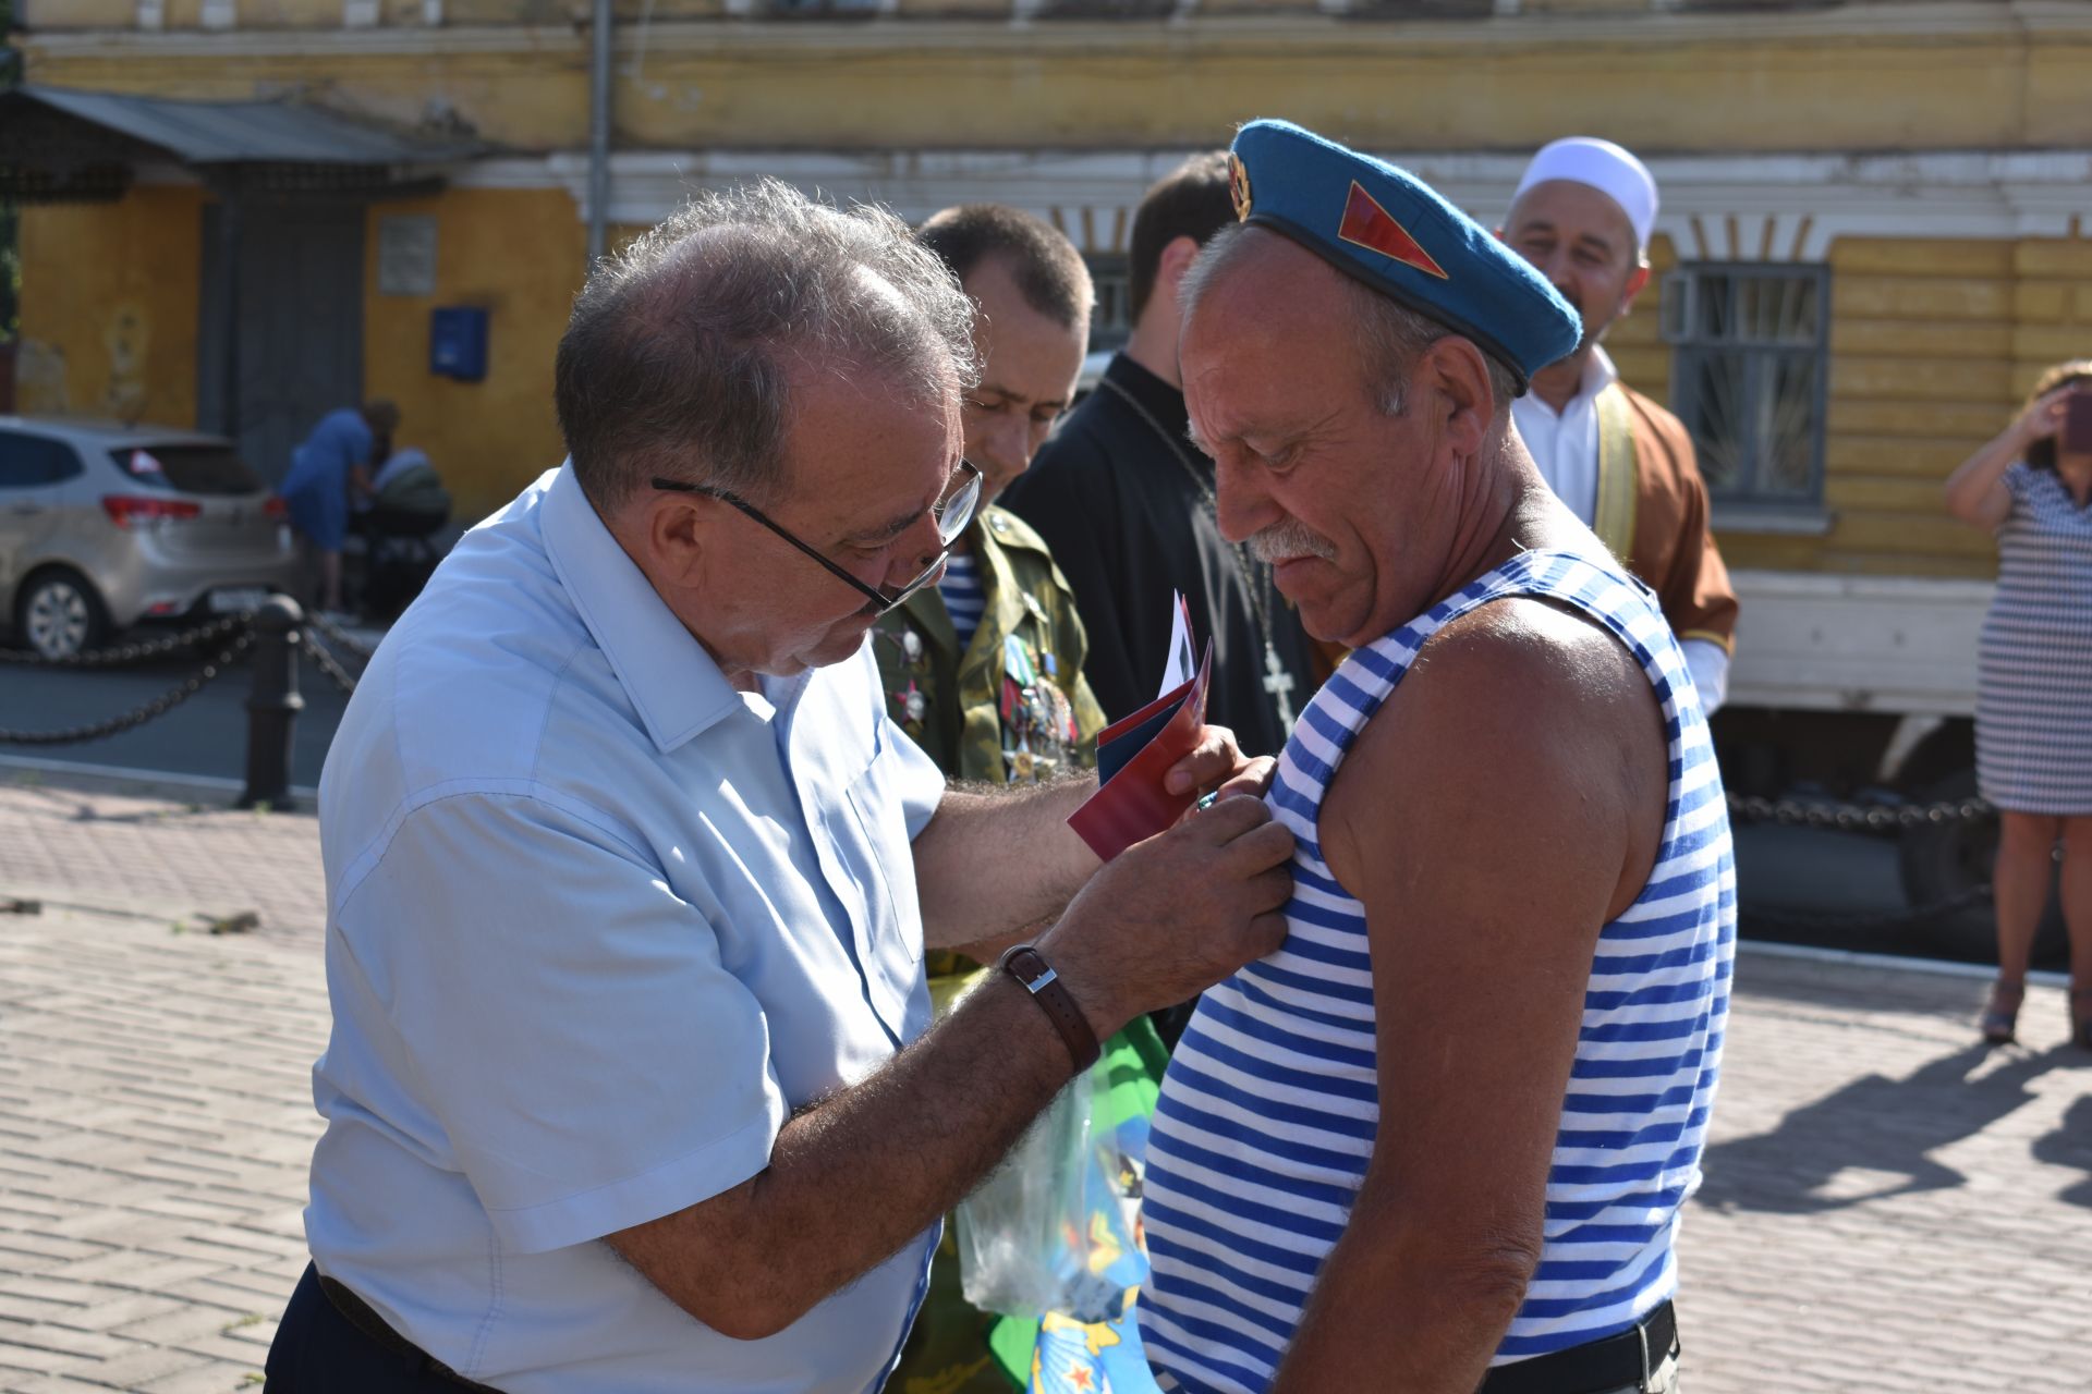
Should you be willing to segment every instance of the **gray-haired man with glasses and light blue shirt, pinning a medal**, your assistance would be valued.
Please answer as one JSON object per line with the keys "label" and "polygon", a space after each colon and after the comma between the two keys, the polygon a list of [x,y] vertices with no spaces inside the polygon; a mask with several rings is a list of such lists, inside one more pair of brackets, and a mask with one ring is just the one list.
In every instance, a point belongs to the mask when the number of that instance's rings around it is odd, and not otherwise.
{"label": "gray-haired man with glasses and light blue shirt, pinning a medal", "polygon": [[[1276,943],[1261,800],[1100,869],[1094,777],[946,790],[885,711],[866,633],[979,495],[971,318],[902,224],[774,182],[590,278],[567,464],[328,752],[326,1133],[270,1390],[877,1390],[937,1216],[1100,1037]],[[1172,771],[1266,777],[1218,729]],[[931,1026],[925,949],[962,945],[1015,947]]]}

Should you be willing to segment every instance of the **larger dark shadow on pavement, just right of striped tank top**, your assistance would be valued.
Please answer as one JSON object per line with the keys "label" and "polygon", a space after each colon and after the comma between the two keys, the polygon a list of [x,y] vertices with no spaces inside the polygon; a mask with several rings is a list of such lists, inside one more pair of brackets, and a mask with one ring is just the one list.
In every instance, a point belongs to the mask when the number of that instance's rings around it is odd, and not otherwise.
{"label": "larger dark shadow on pavement, just right of striped tank top", "polygon": [[2015,1053],[1971,1078],[1989,1058],[1989,1047],[1969,1045],[1906,1078],[1866,1074],[1795,1108],[1770,1133],[1718,1143],[1703,1160],[1707,1181],[1699,1202],[1720,1210],[1820,1214],[1964,1185],[1962,1172],[1931,1154],[2027,1103],[2033,1097],[2027,1085],[2065,1064],[2065,1047]]}

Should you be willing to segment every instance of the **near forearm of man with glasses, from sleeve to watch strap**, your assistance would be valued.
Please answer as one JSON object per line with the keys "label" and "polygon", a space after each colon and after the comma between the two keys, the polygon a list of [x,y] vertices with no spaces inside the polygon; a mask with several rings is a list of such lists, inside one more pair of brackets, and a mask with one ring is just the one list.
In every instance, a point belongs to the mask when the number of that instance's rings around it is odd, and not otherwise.
{"label": "near forearm of man with glasses, from sleeve to watch strap", "polygon": [[772,1335],[929,1229],[1071,1076],[1052,1022],[998,974],[787,1122],[764,1172],[611,1244],[699,1321]]}

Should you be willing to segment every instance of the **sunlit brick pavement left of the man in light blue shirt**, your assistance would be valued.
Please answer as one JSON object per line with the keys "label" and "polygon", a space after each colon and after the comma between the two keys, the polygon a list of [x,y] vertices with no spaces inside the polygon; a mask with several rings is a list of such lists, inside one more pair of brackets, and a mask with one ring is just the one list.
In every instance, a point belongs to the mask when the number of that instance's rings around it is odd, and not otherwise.
{"label": "sunlit brick pavement left of the man in light blue shirt", "polygon": [[0,771],[4,1390],[253,1388],[303,1267],[316,826],[165,794]]}

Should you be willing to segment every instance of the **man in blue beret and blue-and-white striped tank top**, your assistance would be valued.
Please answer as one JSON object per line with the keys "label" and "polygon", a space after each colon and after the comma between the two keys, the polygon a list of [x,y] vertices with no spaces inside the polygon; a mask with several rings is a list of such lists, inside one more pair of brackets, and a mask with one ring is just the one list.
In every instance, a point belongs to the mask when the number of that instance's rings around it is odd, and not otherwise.
{"label": "man in blue beret and blue-and-white striped tank top", "polygon": [[1354,654],[1287,744],[1287,940],[1207,991],[1146,1172],[1169,1390],[1678,1388],[1734,869],[1655,596],[1510,424],[1569,305],[1282,121],[1188,278],[1230,539]]}

